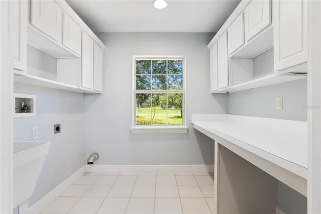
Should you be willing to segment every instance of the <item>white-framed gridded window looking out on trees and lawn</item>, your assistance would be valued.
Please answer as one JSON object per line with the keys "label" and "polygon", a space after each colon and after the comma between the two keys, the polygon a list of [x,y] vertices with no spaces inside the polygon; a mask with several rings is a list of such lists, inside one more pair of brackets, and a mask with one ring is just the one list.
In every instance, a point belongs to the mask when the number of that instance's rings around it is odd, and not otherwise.
{"label": "white-framed gridded window looking out on trees and lawn", "polygon": [[184,57],[137,56],[133,60],[133,125],[183,126]]}

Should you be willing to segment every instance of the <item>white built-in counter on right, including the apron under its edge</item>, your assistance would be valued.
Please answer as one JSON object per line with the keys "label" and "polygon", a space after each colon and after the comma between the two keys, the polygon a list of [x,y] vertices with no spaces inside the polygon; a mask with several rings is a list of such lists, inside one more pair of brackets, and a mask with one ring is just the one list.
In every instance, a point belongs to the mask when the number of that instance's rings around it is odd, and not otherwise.
{"label": "white built-in counter on right, including the apron under its edge", "polygon": [[237,115],[192,115],[192,125],[306,195],[306,122]]}

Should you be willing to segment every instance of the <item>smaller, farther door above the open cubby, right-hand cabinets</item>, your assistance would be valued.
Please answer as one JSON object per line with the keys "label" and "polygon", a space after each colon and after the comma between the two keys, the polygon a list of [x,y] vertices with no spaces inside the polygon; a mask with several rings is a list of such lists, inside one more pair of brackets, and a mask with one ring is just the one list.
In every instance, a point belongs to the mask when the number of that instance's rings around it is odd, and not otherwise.
{"label": "smaller, farther door above the open cubby, right-hand cabinets", "polygon": [[228,32],[228,43],[229,43],[229,54],[234,52],[236,49],[244,44],[244,20],[243,13],[234,20],[227,30]]}

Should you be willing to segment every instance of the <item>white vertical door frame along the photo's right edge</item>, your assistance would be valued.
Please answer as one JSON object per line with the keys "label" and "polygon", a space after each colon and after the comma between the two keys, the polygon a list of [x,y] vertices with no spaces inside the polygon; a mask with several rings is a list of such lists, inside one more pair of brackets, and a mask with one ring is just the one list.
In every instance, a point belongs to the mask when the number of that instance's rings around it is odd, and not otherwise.
{"label": "white vertical door frame along the photo's right edge", "polygon": [[321,2],[308,1],[308,178],[307,213],[321,213]]}

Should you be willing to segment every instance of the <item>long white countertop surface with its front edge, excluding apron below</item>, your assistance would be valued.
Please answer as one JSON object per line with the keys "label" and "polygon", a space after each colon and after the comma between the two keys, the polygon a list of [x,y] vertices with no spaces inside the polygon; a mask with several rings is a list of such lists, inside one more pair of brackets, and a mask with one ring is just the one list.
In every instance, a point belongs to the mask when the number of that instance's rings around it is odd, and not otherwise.
{"label": "long white countertop surface with its front edge, excluding apron below", "polygon": [[192,124],[201,132],[206,130],[305,179],[307,177],[306,122],[237,115],[193,115]]}

